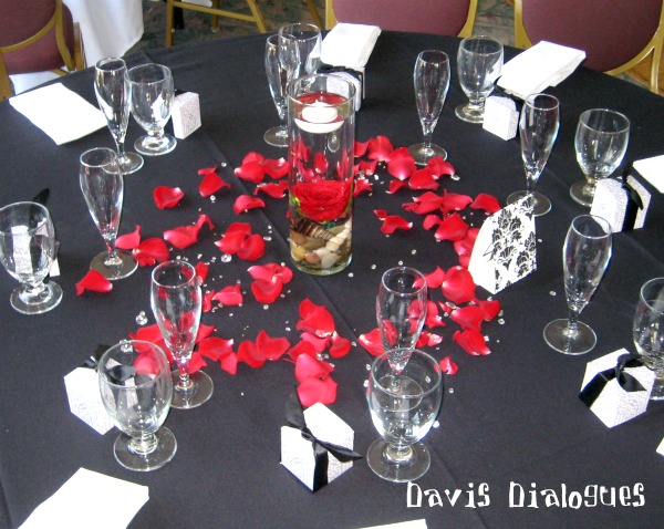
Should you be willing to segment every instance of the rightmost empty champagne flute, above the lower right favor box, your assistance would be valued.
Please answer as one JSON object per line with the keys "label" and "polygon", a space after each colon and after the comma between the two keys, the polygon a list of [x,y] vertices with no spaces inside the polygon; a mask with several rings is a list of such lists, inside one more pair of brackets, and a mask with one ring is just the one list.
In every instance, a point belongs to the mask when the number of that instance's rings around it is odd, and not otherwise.
{"label": "rightmost empty champagne flute, above the lower right favor box", "polygon": [[611,259],[611,225],[601,217],[580,215],[572,220],[562,248],[567,320],[544,328],[544,341],[564,354],[583,354],[596,343],[594,331],[578,321],[579,314],[600,284]]}

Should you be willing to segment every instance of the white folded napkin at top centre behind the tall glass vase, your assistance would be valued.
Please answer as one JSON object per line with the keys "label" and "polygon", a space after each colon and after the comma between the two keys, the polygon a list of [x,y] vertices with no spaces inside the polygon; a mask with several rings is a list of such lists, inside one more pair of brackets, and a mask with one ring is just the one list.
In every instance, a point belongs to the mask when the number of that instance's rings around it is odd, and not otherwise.
{"label": "white folded napkin at top centre behind the tall glass vase", "polygon": [[362,70],[380,34],[377,25],[339,23],[323,39],[321,61],[331,66]]}

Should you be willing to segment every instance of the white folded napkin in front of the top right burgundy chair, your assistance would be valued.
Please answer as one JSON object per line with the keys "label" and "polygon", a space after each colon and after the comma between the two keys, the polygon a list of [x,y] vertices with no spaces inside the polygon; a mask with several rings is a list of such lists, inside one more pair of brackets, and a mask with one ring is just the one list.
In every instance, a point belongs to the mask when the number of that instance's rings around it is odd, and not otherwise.
{"label": "white folded napkin in front of the top right burgundy chair", "polygon": [[530,94],[557,86],[583,59],[584,51],[541,41],[502,66],[498,86],[525,100]]}

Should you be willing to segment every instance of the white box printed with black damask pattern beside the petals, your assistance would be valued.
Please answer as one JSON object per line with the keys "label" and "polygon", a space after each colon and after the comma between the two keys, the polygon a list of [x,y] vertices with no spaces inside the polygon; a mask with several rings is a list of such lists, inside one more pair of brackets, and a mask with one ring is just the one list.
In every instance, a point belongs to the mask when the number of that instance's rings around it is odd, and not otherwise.
{"label": "white box printed with black damask pattern beside the petals", "polygon": [[468,271],[492,294],[537,269],[531,198],[523,197],[488,217],[481,226]]}

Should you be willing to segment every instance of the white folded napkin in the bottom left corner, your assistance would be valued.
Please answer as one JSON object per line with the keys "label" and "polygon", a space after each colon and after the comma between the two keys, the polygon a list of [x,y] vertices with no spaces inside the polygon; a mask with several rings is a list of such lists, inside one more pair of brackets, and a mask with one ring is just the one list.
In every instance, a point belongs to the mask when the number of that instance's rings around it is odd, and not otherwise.
{"label": "white folded napkin in the bottom left corner", "polygon": [[20,529],[124,529],[148,498],[143,485],[80,468]]}

